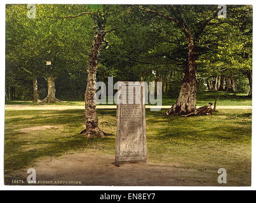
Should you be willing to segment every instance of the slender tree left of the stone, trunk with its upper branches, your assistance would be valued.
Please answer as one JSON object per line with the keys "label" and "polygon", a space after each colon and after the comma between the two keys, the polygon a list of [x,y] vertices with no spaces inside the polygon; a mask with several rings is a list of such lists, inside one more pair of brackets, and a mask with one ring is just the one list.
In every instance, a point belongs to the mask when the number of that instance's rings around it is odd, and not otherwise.
{"label": "slender tree left of the stone, trunk with its upper branches", "polygon": [[91,5],[90,8],[88,6],[84,6],[81,8],[84,10],[82,13],[78,13],[76,15],[68,15],[68,16],[59,16],[57,19],[66,19],[66,18],[78,18],[84,15],[90,15],[94,22],[95,29],[95,37],[93,41],[93,47],[91,49],[91,54],[88,62],[88,79],[87,86],[84,95],[85,101],[85,126],[86,128],[81,131],[80,134],[88,137],[102,137],[105,133],[98,128],[98,117],[96,111],[96,103],[93,100],[93,97],[96,93],[96,89],[94,88],[97,79],[97,65],[98,65],[98,55],[100,49],[102,48],[102,43],[105,41],[105,35],[109,32],[115,30],[112,28],[110,30],[106,30],[107,28],[107,7],[101,5]]}

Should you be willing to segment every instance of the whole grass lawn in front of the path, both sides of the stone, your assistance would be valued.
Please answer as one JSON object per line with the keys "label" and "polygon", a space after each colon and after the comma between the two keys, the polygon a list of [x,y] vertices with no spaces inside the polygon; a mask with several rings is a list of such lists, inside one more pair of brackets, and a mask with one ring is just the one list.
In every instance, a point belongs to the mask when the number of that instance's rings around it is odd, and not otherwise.
{"label": "whole grass lawn in front of the path, both sides of the stone", "polygon": [[[147,159],[163,164],[198,170],[217,171],[224,167],[229,177],[239,177],[250,184],[251,110],[228,109],[212,116],[163,116],[146,111]],[[33,166],[44,157],[57,157],[69,152],[94,152],[114,155],[116,110],[98,110],[100,128],[105,138],[84,138],[83,110],[6,110],[4,140],[5,173]],[[56,126],[22,133],[33,126]],[[179,167],[179,166],[178,166]]]}

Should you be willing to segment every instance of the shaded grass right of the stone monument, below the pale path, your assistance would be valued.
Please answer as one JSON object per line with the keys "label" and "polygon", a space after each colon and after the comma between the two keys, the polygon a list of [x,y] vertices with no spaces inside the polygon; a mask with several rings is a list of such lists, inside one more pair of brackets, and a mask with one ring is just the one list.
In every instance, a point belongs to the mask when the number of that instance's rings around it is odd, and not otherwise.
{"label": "shaded grass right of the stone monument, below the pale path", "polygon": [[225,110],[211,116],[194,117],[150,115],[147,125],[151,126],[152,136],[149,139],[169,142],[170,139],[243,142],[250,140],[252,136],[251,117],[251,113],[241,114],[239,110]]}

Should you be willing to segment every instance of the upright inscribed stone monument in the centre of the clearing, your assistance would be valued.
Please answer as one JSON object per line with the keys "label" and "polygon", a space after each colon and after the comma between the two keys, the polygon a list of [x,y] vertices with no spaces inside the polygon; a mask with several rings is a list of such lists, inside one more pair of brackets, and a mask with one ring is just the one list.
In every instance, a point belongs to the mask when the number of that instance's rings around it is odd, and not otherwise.
{"label": "upright inscribed stone monument in the centre of the clearing", "polygon": [[118,82],[116,161],[147,162],[143,82]]}

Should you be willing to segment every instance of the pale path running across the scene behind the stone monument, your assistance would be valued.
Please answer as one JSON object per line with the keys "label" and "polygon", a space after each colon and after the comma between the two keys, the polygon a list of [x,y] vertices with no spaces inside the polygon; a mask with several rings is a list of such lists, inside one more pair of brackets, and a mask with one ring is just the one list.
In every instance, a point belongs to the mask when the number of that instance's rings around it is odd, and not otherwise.
{"label": "pale path running across the scene behind the stone monument", "polygon": [[[171,108],[172,106],[149,106],[146,108]],[[116,108],[116,105],[98,105],[97,108],[112,109]],[[197,107],[199,108],[199,107]],[[218,106],[218,109],[252,109],[252,106]],[[5,105],[5,110],[70,110],[81,109],[84,110],[84,106],[79,105]]]}

